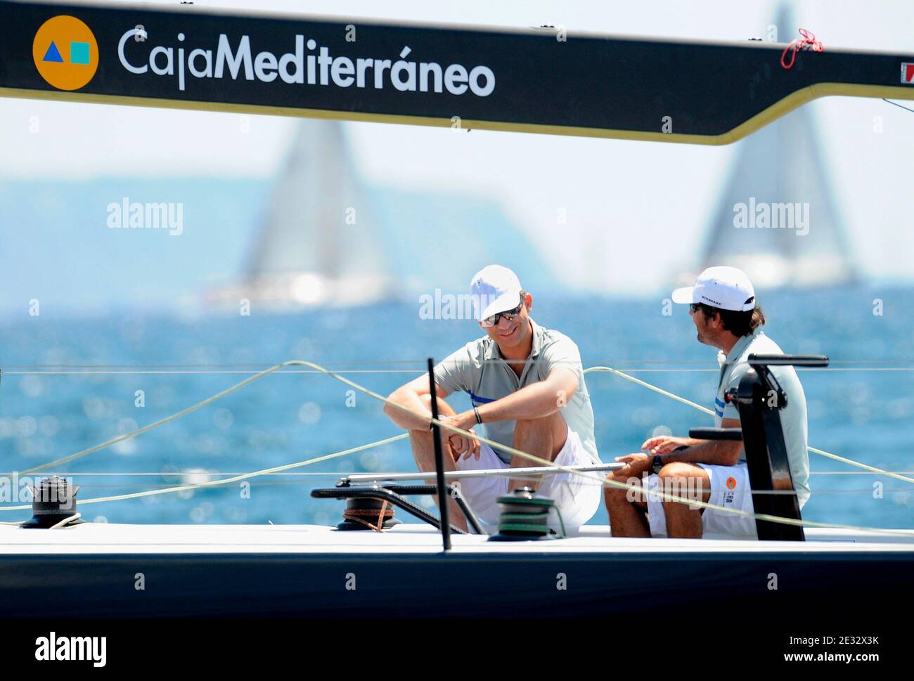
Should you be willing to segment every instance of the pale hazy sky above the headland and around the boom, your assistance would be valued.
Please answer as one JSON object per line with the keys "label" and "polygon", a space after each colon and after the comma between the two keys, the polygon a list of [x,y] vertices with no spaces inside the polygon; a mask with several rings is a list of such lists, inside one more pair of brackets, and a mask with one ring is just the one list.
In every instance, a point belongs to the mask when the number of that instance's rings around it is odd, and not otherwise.
{"label": "pale hazy sky above the headland and around the boom", "polygon": [[[169,3],[171,4],[171,3]],[[218,0],[196,5],[282,9],[501,26],[564,25],[629,35],[744,39],[764,36],[774,2],[428,3]],[[827,49],[914,54],[914,3],[795,2],[798,27]],[[779,36],[781,41],[792,35]],[[914,102],[903,102],[912,106]],[[839,209],[864,270],[912,276],[910,184],[914,113],[880,100],[808,104],[820,125]],[[37,118],[35,118],[37,117]],[[875,132],[881,117],[882,132]],[[38,123],[38,132],[29,131]],[[88,176],[272,176],[293,120],[26,100],[0,100],[0,179]],[[34,127],[34,126],[33,126]],[[653,293],[695,265],[697,246],[736,147],[623,142],[521,133],[452,133],[348,123],[356,158],[374,182],[471,191],[502,201],[569,282]],[[142,131],[137,134],[137,131]],[[247,132],[244,132],[247,130]],[[557,229],[557,212],[569,225]]]}

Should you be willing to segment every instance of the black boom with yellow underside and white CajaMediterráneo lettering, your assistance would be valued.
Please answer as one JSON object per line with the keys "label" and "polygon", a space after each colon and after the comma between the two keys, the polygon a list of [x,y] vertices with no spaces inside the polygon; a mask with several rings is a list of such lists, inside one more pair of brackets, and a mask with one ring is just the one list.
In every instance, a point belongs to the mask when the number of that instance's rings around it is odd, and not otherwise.
{"label": "black boom with yellow underside and white CajaMediterr\u00e1neo lettering", "polygon": [[[55,16],[98,45],[73,90],[36,66],[58,59],[35,44]],[[87,39],[73,43],[84,63]],[[0,95],[699,144],[824,94],[914,99],[898,78],[914,56],[826,48],[785,69],[784,47],[0,0]]]}

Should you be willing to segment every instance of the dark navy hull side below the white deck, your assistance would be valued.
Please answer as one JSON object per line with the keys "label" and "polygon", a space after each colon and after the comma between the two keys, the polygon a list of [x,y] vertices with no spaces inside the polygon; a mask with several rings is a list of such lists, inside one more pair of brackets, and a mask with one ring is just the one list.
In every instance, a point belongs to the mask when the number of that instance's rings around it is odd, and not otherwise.
{"label": "dark navy hull side below the white deck", "polygon": [[739,604],[844,617],[877,602],[904,612],[912,581],[907,552],[7,555],[0,616],[687,616]]}

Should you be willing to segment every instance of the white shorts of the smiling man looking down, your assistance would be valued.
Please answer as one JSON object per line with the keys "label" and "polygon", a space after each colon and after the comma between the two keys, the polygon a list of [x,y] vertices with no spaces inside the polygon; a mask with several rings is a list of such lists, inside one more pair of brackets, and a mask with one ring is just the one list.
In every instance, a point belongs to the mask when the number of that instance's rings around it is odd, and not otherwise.
{"label": "white shorts of the smiling man looking down", "polygon": [[[565,444],[556,455],[555,463],[569,468],[594,464],[590,454],[581,444],[578,433],[570,429]],[[458,471],[501,470],[511,467],[509,463],[499,459],[492,448],[485,443],[479,445],[479,461],[474,456],[470,456],[468,459],[461,457],[456,464]],[[530,465],[539,464],[530,463]],[[509,478],[506,477],[467,478],[460,481],[460,491],[470,508],[473,509],[473,513],[484,523],[494,525],[498,522],[496,500],[499,496],[508,494],[508,481]],[[596,478],[563,473],[544,475],[542,481],[537,489],[537,494],[547,496],[556,503],[566,529],[580,527],[586,523],[600,506],[602,484]],[[549,526],[558,529],[558,517],[550,518]]]}

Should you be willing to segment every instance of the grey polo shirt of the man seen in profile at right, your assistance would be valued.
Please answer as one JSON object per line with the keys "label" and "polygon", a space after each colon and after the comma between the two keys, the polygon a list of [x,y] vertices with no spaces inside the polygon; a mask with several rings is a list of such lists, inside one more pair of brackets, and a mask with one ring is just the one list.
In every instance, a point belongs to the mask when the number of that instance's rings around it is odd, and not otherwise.
{"label": "grey polo shirt of the man seen in profile at right", "polygon": [[[783,351],[777,343],[762,333],[761,327],[751,335],[742,336],[735,346],[730,348],[727,356],[718,353],[720,379],[717,383],[717,397],[714,400],[714,424],[720,428],[724,419],[739,420],[739,410],[732,402],[725,401],[724,396],[730,388],[737,388],[739,381],[749,370],[749,355],[781,355]],[[806,396],[802,391],[800,378],[793,367],[771,367],[771,373],[781,384],[787,396],[787,406],[781,412],[781,431],[784,433],[784,444],[787,446],[787,458],[791,466],[793,489],[797,492],[800,507],[809,498],[809,450],[806,449]],[[742,461],[745,462],[745,453]]]}

